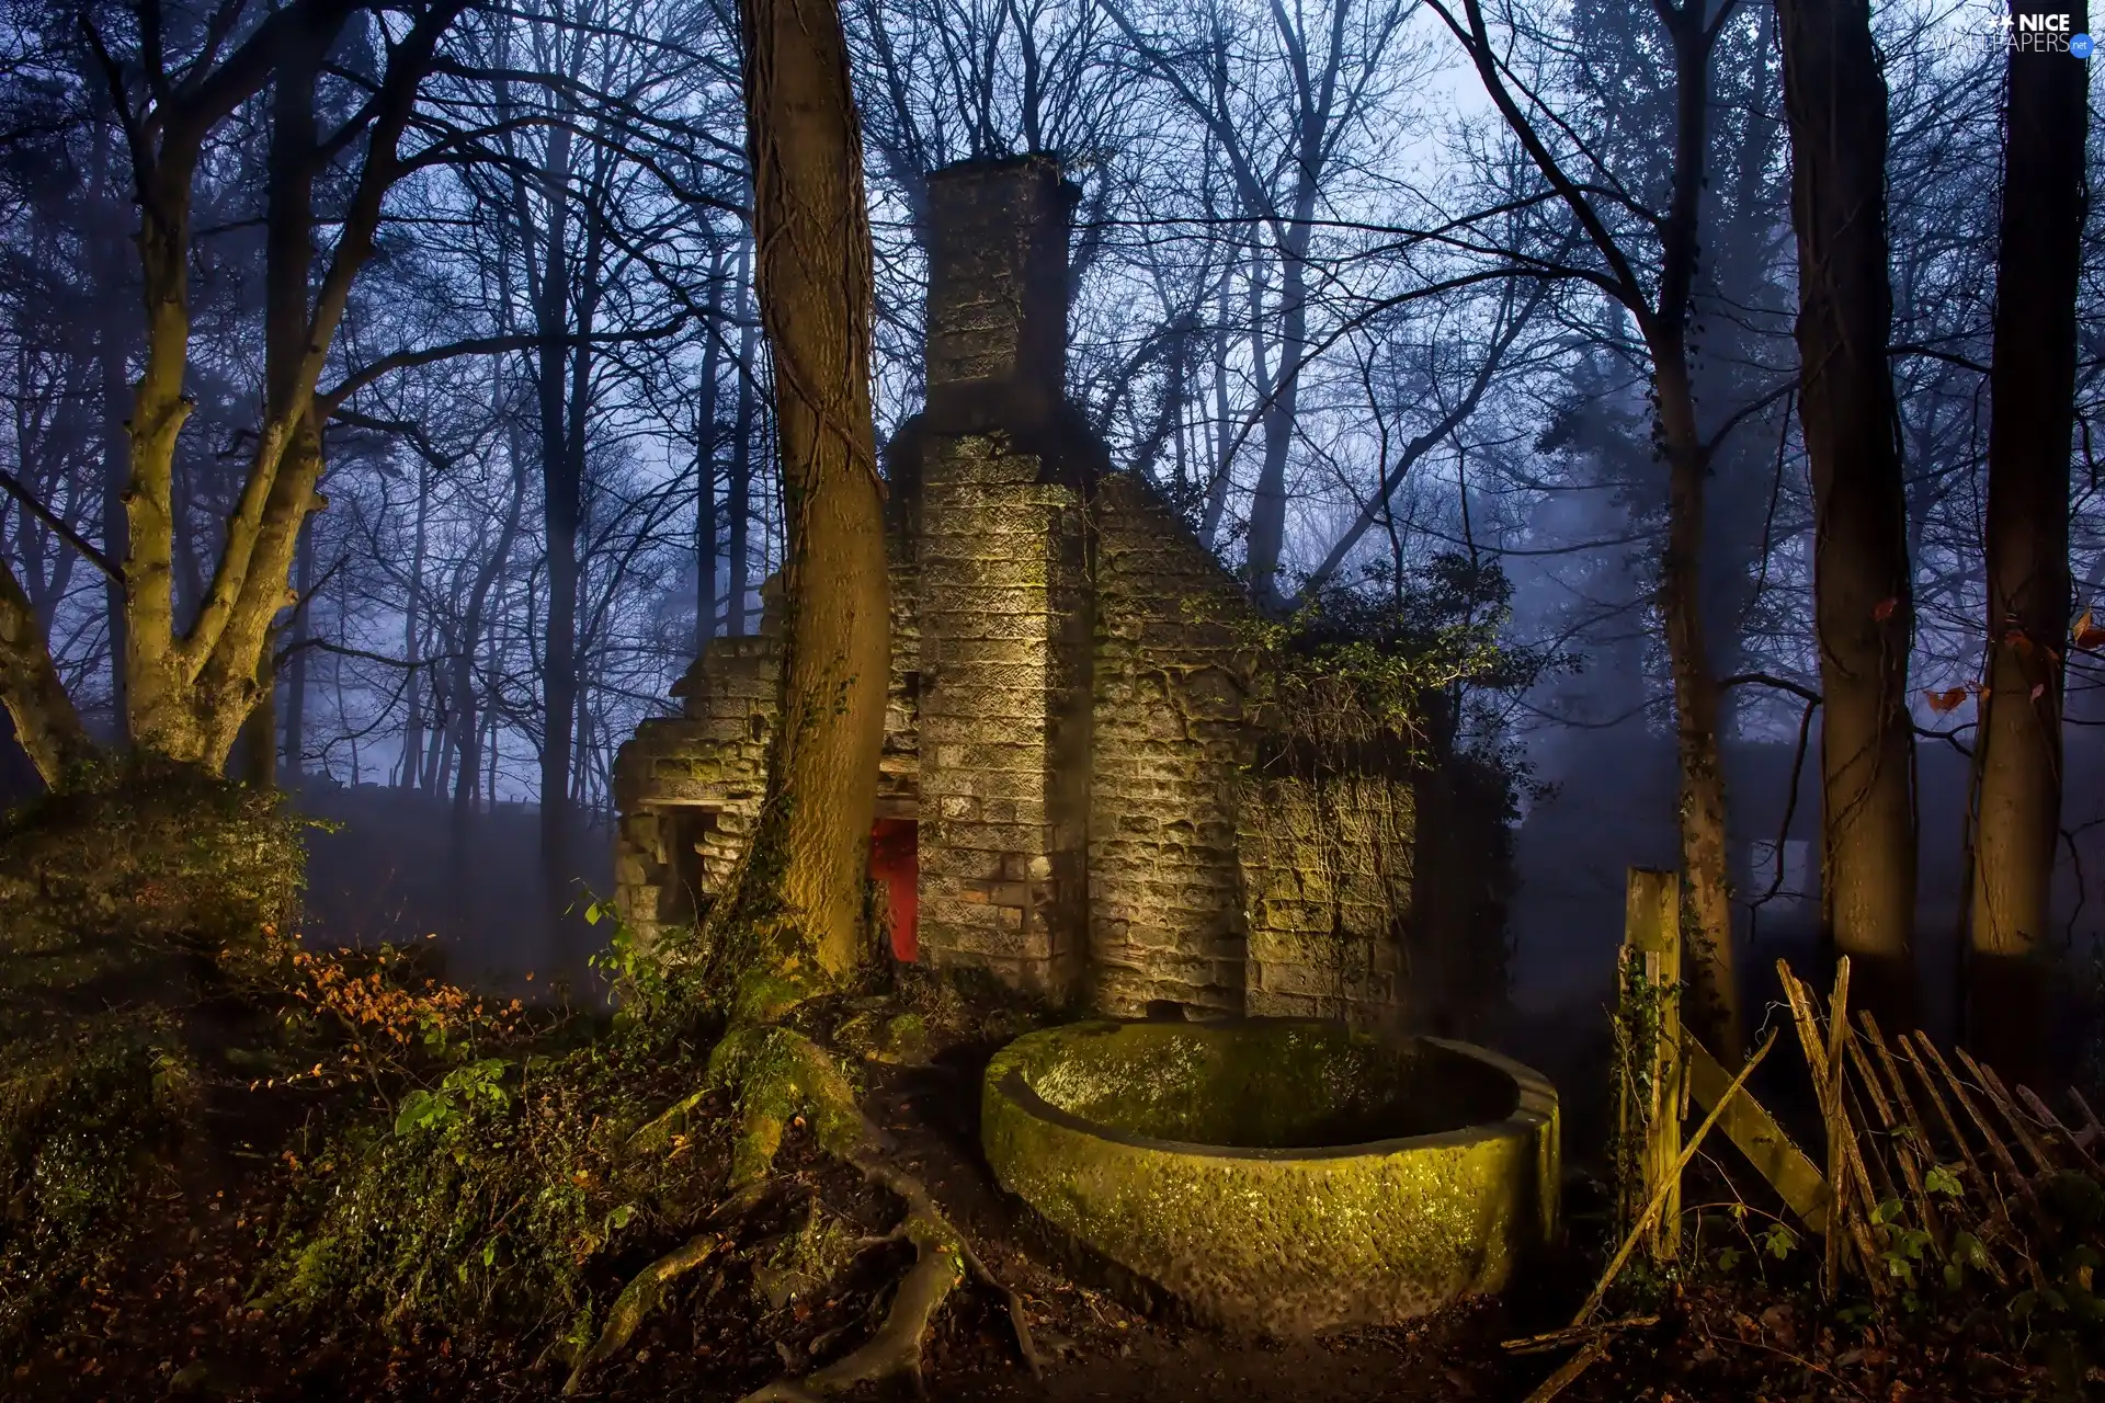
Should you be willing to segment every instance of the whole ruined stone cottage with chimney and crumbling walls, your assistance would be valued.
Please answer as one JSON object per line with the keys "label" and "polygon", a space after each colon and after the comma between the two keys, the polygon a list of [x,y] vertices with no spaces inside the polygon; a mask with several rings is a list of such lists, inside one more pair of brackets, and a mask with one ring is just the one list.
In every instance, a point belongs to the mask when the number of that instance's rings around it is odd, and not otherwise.
{"label": "whole ruined stone cottage with chimney and crumbling walls", "polygon": [[[1052,158],[954,166],[928,204],[928,402],[886,467],[893,949],[1111,1014],[1440,1026],[1446,953],[1499,940],[1480,892],[1419,881],[1457,867],[1452,787],[1320,715],[1320,688],[1282,692],[1244,591],[1067,404]],[[636,928],[693,921],[733,875],[779,656],[770,608],[621,749]]]}

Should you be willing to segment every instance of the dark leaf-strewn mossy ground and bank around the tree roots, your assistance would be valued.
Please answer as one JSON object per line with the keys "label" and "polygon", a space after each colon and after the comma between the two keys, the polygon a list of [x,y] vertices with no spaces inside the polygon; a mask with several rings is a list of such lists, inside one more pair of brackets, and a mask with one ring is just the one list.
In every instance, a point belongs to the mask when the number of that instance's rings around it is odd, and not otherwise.
{"label": "dark leaf-strewn mossy ground and bank around the tree roots", "polygon": [[[514,1018],[408,955],[303,965],[282,938],[297,825],[238,787],[145,778],[88,776],[0,825],[0,1397],[552,1399],[566,1344],[697,1231],[703,1264],[587,1395],[741,1397],[840,1359],[884,1317],[914,1254],[869,1241],[897,1224],[897,1195],[821,1153],[794,1106],[764,1193],[711,1218],[741,1119],[703,1090],[705,1020]],[[1029,1382],[1000,1302],[960,1289],[928,1338],[935,1397],[1497,1399],[1547,1371],[1497,1350],[1541,1327],[1524,1300],[1301,1344],[1128,1310],[994,1191],[977,1151],[985,1060],[1036,1018],[920,978],[796,1018],[1023,1294],[1048,1359]],[[1535,1287],[1553,1304],[1572,1283]],[[1667,1327],[1566,1397],[1745,1403],[1775,1380],[1768,1397],[2036,1392],[1962,1338],[1903,1348],[1762,1300],[1686,1289]],[[1785,1329],[1798,1363],[1779,1363]]]}

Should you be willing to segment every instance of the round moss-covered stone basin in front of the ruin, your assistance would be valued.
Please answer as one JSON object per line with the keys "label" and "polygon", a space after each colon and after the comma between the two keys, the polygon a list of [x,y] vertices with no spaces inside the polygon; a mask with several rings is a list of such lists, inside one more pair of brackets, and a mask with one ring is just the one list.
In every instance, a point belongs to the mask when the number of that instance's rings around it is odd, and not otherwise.
{"label": "round moss-covered stone basin in front of the ruin", "polygon": [[1217,1325],[1391,1325],[1556,1233],[1558,1098],[1469,1043],[1330,1022],[1078,1022],[987,1064],[1002,1188]]}

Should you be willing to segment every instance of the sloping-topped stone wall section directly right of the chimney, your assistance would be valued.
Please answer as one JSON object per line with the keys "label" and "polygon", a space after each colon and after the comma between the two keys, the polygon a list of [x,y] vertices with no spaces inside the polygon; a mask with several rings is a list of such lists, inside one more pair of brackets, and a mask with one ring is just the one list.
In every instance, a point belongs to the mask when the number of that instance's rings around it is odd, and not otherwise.
{"label": "sloping-topped stone wall section directly right of the chimney", "polygon": [[1130,475],[1097,484],[1090,999],[1244,1012],[1238,785],[1250,604]]}

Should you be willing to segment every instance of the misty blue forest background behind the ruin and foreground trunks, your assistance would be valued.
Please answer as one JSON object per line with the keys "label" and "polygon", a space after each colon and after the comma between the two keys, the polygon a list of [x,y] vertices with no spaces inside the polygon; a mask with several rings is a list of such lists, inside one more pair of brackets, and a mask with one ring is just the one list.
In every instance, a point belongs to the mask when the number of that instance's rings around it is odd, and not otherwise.
{"label": "misty blue forest background behind the ruin and foreground trunks", "polygon": [[[438,8],[457,17],[406,99],[375,252],[324,347],[326,509],[299,532],[297,604],[276,618],[272,690],[232,764],[347,820],[316,837],[330,934],[440,930],[465,974],[514,982],[560,957],[564,894],[606,886],[615,749],[671,707],[703,639],[758,629],[783,515],[735,6]],[[272,240],[328,255],[343,238],[389,53],[434,6],[335,11],[349,19],[307,76],[312,227],[274,217],[282,80],[198,147],[177,629],[204,608],[267,419]],[[1989,635],[2008,78],[1996,13],[1909,0],[1873,15],[1918,953],[1934,1016],[1964,915],[1968,686]],[[124,555],[126,419],[147,349],[126,122],[147,97],[183,97],[183,63],[219,50],[225,15],[238,8],[15,0],[0,27],[0,551],[101,736],[122,711],[122,591],[103,566]],[[1678,13],[1575,0],[1446,15],[1463,32],[1482,21],[1528,133],[1650,297],[1676,276],[1663,259],[1690,120]],[[1777,11],[1707,15],[1692,99],[1707,175],[1682,269],[1692,404],[1713,444],[1697,581],[1711,671],[1728,679],[1732,911],[1756,959],[1796,953],[1819,926],[1815,499]],[[1461,650],[1448,686],[1461,743],[1516,774],[1516,997],[1598,1008],[1623,867],[1680,865],[1659,345],[1442,11],[846,0],[844,17],[878,255],[880,435],[920,404],[924,172],[1057,151],[1080,187],[1074,402],[1259,597],[1343,587],[1455,637],[1495,631],[1499,656]],[[147,55],[166,55],[162,78]],[[137,107],[118,107],[112,74]],[[154,82],[175,86],[149,95]],[[2090,221],[2071,625],[2105,585],[2097,238]],[[2084,963],[2105,913],[2099,682],[2069,650],[2048,944]],[[15,793],[32,789],[11,759]]]}

